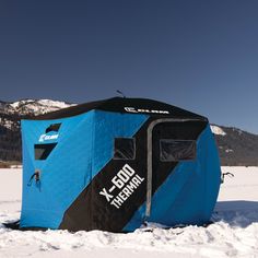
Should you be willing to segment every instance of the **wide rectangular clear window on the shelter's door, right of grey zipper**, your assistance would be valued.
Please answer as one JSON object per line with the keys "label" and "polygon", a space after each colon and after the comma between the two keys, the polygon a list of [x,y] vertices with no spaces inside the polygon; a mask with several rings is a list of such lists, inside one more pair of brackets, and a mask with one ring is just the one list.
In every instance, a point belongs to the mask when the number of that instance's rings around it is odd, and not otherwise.
{"label": "wide rectangular clear window on the shelter's door, right of grey zipper", "polygon": [[196,159],[196,141],[160,140],[160,160],[162,162],[191,161]]}

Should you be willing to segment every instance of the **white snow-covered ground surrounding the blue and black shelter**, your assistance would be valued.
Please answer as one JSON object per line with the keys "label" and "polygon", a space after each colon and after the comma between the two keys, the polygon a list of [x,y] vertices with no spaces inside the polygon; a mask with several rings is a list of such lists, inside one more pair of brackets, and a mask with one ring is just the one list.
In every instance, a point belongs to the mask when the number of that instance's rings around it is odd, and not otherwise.
{"label": "white snow-covered ground surrounding the blue and black shelter", "polygon": [[[226,177],[208,227],[129,234],[20,232],[0,224],[0,257],[258,257],[258,167],[223,167]],[[0,169],[0,223],[19,219],[21,169]]]}

